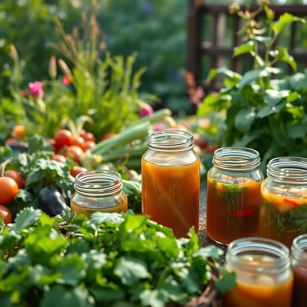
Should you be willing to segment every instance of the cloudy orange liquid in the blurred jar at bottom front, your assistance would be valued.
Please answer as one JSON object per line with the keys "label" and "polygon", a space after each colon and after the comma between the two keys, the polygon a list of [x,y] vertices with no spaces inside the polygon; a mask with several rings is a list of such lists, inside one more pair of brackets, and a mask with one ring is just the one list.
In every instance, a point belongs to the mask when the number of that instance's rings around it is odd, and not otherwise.
{"label": "cloudy orange liquid in the blurred jar at bottom front", "polygon": [[[274,258],[261,255],[244,255],[247,267],[263,262],[274,263]],[[241,263],[240,263],[241,265]],[[233,270],[231,266],[227,270]],[[293,290],[293,273],[289,268],[279,274],[252,274],[236,271],[237,286],[223,295],[223,307],[290,307]]]}

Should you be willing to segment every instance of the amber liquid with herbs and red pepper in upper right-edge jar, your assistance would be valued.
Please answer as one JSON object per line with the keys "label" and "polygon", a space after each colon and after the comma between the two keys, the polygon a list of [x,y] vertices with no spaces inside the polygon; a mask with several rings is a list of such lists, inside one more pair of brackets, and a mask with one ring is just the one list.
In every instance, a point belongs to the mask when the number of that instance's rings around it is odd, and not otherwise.
{"label": "amber liquid with herbs and red pepper in upper right-edge jar", "polygon": [[259,237],[291,247],[293,239],[307,233],[307,191],[300,188],[261,188]]}

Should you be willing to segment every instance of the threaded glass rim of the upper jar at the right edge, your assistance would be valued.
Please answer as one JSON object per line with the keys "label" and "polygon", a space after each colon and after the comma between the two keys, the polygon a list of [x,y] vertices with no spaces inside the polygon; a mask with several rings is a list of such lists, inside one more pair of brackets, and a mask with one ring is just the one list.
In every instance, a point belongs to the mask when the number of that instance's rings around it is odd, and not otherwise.
{"label": "threaded glass rim of the upper jar at the right edge", "polygon": [[307,185],[307,159],[279,157],[271,159],[266,174],[274,181],[293,185]]}

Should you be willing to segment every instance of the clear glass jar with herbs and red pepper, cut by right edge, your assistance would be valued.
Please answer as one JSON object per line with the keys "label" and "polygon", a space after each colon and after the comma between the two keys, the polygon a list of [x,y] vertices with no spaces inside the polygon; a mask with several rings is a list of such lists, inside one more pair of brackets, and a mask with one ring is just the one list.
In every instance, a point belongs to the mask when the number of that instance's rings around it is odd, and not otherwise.
{"label": "clear glass jar with herbs and red pepper, cut by right edge", "polygon": [[290,248],[297,235],[307,232],[307,159],[272,159],[266,173],[261,185],[259,236]]}

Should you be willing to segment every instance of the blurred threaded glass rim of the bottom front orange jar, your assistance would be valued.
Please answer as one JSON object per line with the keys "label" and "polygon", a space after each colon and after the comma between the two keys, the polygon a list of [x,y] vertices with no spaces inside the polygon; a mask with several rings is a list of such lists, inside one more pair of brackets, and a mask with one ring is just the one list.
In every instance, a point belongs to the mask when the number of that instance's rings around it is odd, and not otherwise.
{"label": "blurred threaded glass rim of the bottom front orange jar", "polygon": [[[257,266],[242,259],[242,255],[263,255],[274,258]],[[232,241],[226,253],[226,262],[238,270],[252,274],[277,274],[290,267],[290,251],[285,244],[266,238],[247,237]]]}

